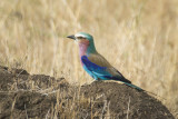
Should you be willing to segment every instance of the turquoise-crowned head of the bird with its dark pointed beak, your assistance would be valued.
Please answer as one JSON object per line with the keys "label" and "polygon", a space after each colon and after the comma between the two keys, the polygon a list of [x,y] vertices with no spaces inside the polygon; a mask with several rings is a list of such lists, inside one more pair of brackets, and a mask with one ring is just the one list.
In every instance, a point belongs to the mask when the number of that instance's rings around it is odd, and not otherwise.
{"label": "turquoise-crowned head of the bird with its dark pointed beak", "polygon": [[93,38],[91,34],[86,33],[86,32],[78,32],[72,36],[68,36],[67,38],[73,39],[77,41],[79,44],[80,49],[83,49],[83,47],[87,48],[86,52],[91,53],[96,52],[95,43],[93,43]]}

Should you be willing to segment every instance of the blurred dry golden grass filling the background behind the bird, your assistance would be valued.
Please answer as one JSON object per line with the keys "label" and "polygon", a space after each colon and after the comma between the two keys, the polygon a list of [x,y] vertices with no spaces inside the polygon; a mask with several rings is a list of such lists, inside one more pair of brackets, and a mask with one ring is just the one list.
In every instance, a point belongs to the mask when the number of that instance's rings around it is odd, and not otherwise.
{"label": "blurred dry golden grass filling the background behind the bird", "polygon": [[178,117],[177,0],[1,0],[0,65],[89,83],[78,47],[66,38],[79,31]]}

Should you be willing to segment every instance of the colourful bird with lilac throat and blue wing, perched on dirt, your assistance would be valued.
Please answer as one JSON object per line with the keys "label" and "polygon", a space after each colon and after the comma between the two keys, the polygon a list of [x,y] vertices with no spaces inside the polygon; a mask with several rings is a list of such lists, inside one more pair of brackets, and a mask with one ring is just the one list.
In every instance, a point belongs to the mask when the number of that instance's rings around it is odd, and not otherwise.
{"label": "colourful bird with lilac throat and blue wing, perched on dirt", "polygon": [[121,81],[129,87],[144,91],[144,89],[132,85],[131,81],[126,79],[105,57],[98,53],[91,34],[78,32],[67,38],[73,39],[78,43],[81,66],[96,81]]}

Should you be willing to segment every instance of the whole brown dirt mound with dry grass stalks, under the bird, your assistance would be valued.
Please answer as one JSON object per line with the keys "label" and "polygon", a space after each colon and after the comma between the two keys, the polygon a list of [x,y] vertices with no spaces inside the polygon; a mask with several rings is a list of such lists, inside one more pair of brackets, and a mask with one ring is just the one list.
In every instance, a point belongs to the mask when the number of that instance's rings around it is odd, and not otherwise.
{"label": "whole brown dirt mound with dry grass stalks, under the bird", "polygon": [[70,86],[63,78],[0,67],[0,118],[174,119],[160,101],[117,82]]}

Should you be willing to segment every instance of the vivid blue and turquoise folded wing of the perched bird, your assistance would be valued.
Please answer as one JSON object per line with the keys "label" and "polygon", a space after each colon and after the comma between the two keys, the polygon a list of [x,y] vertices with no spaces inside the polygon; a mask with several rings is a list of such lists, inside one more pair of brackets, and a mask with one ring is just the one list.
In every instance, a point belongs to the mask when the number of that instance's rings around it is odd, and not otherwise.
{"label": "vivid blue and turquoise folded wing of the perched bird", "polygon": [[[131,83],[129,80],[127,80],[125,77],[121,76],[119,71],[116,71],[118,76],[113,76],[111,73],[111,70],[107,67],[100,67],[93,62],[91,62],[87,56],[81,57],[81,61],[83,63],[85,70],[96,80],[118,80],[127,83]],[[113,69],[113,68],[112,68]]]}

